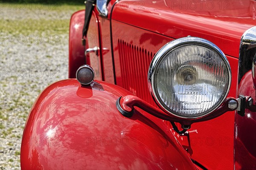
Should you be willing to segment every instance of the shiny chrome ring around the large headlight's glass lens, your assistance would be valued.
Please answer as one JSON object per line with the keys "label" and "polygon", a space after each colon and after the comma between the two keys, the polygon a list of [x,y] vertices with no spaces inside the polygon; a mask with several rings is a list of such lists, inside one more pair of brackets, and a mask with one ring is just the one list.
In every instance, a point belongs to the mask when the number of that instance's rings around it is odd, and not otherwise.
{"label": "shiny chrome ring around the large headlight's glass lens", "polygon": [[205,40],[205,39],[202,39],[202,38],[199,38],[199,37],[183,37],[183,38],[180,38],[180,39],[177,39],[177,40],[173,40],[173,41],[167,43],[166,45],[164,45],[157,52],[157,54],[154,56],[154,58],[151,61],[150,66],[149,66],[149,69],[148,69],[148,88],[149,88],[149,91],[151,92],[151,96],[153,97],[154,101],[166,113],[169,113],[169,114],[171,114],[173,116],[176,116],[176,117],[179,117],[179,118],[183,118],[183,119],[195,119],[195,118],[206,116],[209,113],[206,113],[206,114],[198,116],[198,117],[193,117],[193,118],[177,116],[176,114],[171,113],[170,111],[168,111],[165,108],[166,106],[161,104],[160,100],[157,98],[157,92],[155,91],[155,87],[154,87],[155,71],[156,71],[160,61],[163,58],[165,58],[166,54],[169,54],[176,47],[178,47],[180,45],[188,44],[188,43],[195,43],[195,44],[203,45],[203,46],[205,46],[207,48],[210,48],[210,49],[216,51],[221,57],[223,57],[224,62],[226,63],[227,69],[228,69],[228,76],[229,76],[228,89],[227,89],[223,99],[221,99],[221,102],[219,102],[219,105],[215,105],[215,107],[212,108],[212,111],[215,110],[216,108],[218,108],[224,102],[224,100],[227,97],[227,94],[229,93],[230,85],[231,85],[231,68],[230,68],[230,64],[229,64],[225,54],[221,51],[220,48],[218,48],[217,45],[213,44],[212,42],[210,42],[208,40]]}

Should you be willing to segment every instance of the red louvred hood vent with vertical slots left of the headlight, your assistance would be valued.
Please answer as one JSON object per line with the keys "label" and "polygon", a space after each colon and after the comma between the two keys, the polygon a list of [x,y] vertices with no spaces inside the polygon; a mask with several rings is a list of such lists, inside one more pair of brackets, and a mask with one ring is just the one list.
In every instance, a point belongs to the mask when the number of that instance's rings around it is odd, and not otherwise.
{"label": "red louvred hood vent with vertical slots left of the headlight", "polygon": [[118,40],[122,87],[154,104],[148,91],[148,67],[154,55],[147,49]]}

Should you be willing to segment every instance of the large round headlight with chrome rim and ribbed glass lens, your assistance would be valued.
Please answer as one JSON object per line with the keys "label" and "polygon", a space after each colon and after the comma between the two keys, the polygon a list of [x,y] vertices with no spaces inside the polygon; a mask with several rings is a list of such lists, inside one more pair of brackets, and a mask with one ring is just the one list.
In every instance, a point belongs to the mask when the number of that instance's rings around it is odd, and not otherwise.
{"label": "large round headlight with chrome rim and ribbed glass lens", "polygon": [[194,119],[224,102],[230,90],[230,65],[212,42],[184,37],[157,52],[149,67],[148,82],[160,108],[174,116]]}

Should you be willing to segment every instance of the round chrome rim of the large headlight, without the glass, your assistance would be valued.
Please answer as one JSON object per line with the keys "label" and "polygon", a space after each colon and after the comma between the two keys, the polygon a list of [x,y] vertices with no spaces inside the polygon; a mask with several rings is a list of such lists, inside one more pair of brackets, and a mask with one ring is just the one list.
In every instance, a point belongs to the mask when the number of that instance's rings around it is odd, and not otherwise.
{"label": "round chrome rim of the large headlight, without the glass", "polygon": [[[225,92],[223,98],[217,104],[215,104],[215,106],[213,106],[209,111],[207,111],[207,113],[205,113],[203,115],[199,115],[199,116],[193,116],[193,117],[185,117],[185,116],[180,116],[175,113],[172,113],[172,111],[170,111],[170,109],[160,99],[159,94],[157,93],[157,89],[155,88],[155,85],[154,85],[154,77],[156,76],[157,71],[159,70],[159,65],[162,63],[162,61],[164,59],[166,59],[168,54],[172,53],[172,51],[175,51],[177,48],[181,48],[186,45],[200,45],[204,48],[209,48],[210,50],[215,51],[221,57],[221,59],[224,61],[225,66],[227,67],[227,73],[228,73],[227,91]],[[181,118],[181,119],[187,119],[187,120],[188,119],[198,119],[198,118],[205,117],[205,116],[209,115],[210,113],[212,113],[227,98],[227,95],[230,91],[230,85],[231,85],[231,68],[230,68],[230,64],[227,60],[227,57],[221,51],[221,49],[218,48],[217,45],[215,45],[214,43],[212,43],[208,40],[205,40],[205,39],[199,38],[199,37],[183,37],[183,38],[173,40],[173,41],[167,43],[154,56],[154,58],[151,61],[150,66],[149,66],[149,69],[148,69],[148,88],[149,88],[149,91],[151,92],[151,96],[153,97],[154,101],[157,103],[157,105],[163,111],[165,111],[169,115],[172,115],[172,116],[175,116],[175,117]]]}

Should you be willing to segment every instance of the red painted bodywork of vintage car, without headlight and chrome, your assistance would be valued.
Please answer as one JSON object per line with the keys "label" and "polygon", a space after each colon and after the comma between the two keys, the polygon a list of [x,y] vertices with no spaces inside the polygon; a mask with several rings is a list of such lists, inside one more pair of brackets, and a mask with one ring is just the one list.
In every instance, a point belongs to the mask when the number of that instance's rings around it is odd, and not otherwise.
{"label": "red painted bodywork of vintage car, without headlight and chrome", "polygon": [[[255,111],[227,112],[180,136],[170,122],[141,109],[122,116],[115,103],[130,94],[156,106],[147,87],[150,62],[167,42],[187,36],[217,45],[232,71],[228,96],[251,96],[255,103],[252,72],[239,84],[237,77],[240,40],[256,25],[256,1],[110,0],[107,9],[107,17],[93,9],[85,48],[84,10],[71,17],[69,78],[86,63],[96,81],[81,87],[67,79],[40,94],[25,125],[21,168],[255,169]],[[98,55],[84,56],[94,47]]]}

